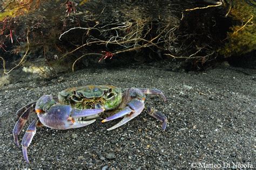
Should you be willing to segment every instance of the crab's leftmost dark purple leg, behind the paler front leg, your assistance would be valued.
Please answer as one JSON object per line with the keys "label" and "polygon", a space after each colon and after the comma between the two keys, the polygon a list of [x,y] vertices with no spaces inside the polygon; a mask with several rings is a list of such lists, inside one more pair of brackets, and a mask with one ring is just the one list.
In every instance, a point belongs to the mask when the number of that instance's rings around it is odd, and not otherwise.
{"label": "crab's leftmost dark purple leg, behind the paler front leg", "polygon": [[[29,107],[29,108],[27,108]],[[17,111],[17,115],[19,116],[18,122],[14,126],[14,130],[12,130],[12,134],[14,135],[14,141],[15,145],[19,146],[18,142],[18,135],[21,133],[23,126],[26,124],[26,121],[29,119],[30,113],[35,108],[35,102],[30,103],[23,107],[22,109],[19,109]],[[22,113],[22,114],[21,114]]]}

